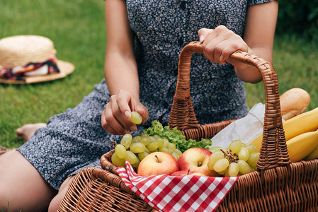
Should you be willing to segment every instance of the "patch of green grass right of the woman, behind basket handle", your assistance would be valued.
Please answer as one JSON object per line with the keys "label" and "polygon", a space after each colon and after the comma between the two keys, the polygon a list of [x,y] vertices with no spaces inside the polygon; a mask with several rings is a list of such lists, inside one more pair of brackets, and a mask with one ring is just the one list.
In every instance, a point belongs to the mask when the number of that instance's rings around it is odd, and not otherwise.
{"label": "patch of green grass right of the woman, behind basket handle", "polygon": [[[280,95],[291,88],[302,88],[311,96],[307,110],[318,107],[318,44],[295,35],[276,35],[273,66],[278,75]],[[249,107],[265,102],[263,83],[246,84]]]}

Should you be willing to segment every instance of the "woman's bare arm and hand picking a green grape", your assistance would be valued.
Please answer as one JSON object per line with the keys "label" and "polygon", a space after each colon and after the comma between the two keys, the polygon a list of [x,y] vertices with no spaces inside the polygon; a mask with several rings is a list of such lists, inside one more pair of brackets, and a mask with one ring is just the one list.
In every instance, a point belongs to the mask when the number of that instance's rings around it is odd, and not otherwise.
{"label": "woman's bare arm and hand picking a green grape", "polygon": [[126,134],[137,130],[137,126],[129,119],[131,111],[140,113],[145,122],[148,110],[139,99],[133,35],[124,1],[105,1],[105,16],[107,42],[104,75],[110,102],[101,115],[101,124],[111,134]]}

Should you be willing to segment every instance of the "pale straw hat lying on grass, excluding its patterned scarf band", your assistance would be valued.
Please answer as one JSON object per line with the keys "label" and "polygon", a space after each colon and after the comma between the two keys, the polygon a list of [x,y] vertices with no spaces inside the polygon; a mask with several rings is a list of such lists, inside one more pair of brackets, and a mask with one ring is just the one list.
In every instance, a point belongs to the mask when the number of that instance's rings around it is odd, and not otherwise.
{"label": "pale straw hat lying on grass, excluding its patterned scarf band", "polygon": [[[52,40],[38,35],[16,35],[0,40],[0,66],[14,68],[29,63],[47,61],[55,51]],[[57,59],[59,73],[50,73],[42,76],[25,76],[24,81],[10,81],[0,78],[0,83],[40,83],[64,78],[72,73],[74,65]]]}

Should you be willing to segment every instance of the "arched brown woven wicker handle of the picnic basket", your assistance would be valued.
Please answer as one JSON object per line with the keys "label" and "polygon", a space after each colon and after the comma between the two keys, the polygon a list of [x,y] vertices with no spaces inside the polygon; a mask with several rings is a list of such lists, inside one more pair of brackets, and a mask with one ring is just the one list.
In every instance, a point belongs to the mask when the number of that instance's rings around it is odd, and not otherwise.
{"label": "arched brown woven wicker handle of the picnic basket", "polygon": [[[168,122],[171,128],[177,127],[179,130],[200,127],[195,117],[190,93],[190,66],[193,53],[203,54],[203,46],[200,42],[188,43],[179,55],[176,93]],[[273,64],[242,51],[234,52],[229,57],[235,61],[255,66],[263,78],[265,117],[261,154],[257,163],[258,169],[267,170],[279,165],[290,164],[280,114],[278,78],[276,71],[273,69]]]}

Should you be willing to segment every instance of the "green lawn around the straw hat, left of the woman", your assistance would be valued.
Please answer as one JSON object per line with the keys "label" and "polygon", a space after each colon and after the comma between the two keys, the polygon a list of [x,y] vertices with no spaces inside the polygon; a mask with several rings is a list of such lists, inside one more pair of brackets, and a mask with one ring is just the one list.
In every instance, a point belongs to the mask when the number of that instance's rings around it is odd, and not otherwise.
{"label": "green lawn around the straw hat, left of the woman", "polygon": [[46,122],[52,115],[76,106],[103,78],[106,45],[104,1],[0,0],[0,37],[50,37],[57,58],[72,62],[67,78],[34,85],[0,84],[0,146],[20,146],[15,129]]}

